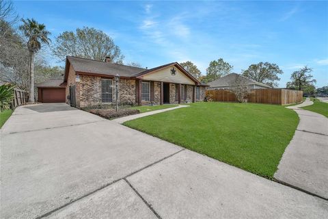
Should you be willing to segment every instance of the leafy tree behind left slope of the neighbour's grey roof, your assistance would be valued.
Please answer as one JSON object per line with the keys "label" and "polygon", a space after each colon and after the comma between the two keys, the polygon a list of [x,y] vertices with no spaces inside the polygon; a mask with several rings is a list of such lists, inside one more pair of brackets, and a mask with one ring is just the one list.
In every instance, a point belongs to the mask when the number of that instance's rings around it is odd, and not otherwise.
{"label": "leafy tree behind left slope of the neighbour's grey roof", "polygon": [[228,62],[224,62],[222,58],[210,62],[208,68],[206,68],[206,77],[203,79],[204,82],[215,81],[224,75],[228,75],[230,70],[234,66],[231,66]]}

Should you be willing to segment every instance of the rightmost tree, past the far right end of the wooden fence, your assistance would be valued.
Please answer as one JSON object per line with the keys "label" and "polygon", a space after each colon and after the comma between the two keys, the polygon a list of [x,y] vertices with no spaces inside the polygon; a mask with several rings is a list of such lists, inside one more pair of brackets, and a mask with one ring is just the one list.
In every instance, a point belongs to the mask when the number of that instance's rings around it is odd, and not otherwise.
{"label": "rightmost tree, past the far right end of the wooden fence", "polygon": [[304,66],[300,70],[296,70],[290,76],[291,81],[287,82],[287,88],[295,88],[295,90],[303,90],[307,86],[313,86],[316,83],[315,79],[312,79],[312,68]]}

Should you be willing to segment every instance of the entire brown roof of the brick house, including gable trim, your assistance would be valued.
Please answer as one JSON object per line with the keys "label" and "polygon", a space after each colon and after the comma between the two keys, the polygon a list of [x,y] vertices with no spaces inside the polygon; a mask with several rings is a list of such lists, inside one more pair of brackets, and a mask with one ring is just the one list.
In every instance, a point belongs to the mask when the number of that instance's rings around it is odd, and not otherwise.
{"label": "entire brown roof of the brick house, including gable trim", "polygon": [[190,73],[187,72],[178,62],[171,62],[169,64],[164,64],[163,66],[158,66],[156,68],[138,68],[133,66],[126,66],[123,64],[115,64],[109,62],[101,62],[97,60],[89,60],[81,57],[67,56],[66,57],[66,68],[65,68],[65,76],[64,82],[67,81],[68,78],[68,70],[70,65],[74,68],[76,73],[81,75],[101,75],[101,76],[115,76],[117,74],[120,77],[126,78],[142,78],[144,75],[148,75],[150,73],[155,72],[156,70],[160,70],[162,68],[167,68],[169,66],[176,66],[179,70],[182,71],[187,77],[189,77],[192,81],[196,83],[196,85],[206,86],[202,84],[200,81],[195,79]]}

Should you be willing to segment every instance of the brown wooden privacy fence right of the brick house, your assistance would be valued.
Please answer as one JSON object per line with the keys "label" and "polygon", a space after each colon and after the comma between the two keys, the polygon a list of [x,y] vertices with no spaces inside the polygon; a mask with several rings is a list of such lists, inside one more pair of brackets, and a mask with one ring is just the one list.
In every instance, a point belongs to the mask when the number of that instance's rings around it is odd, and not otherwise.
{"label": "brown wooden privacy fence right of the brick house", "polygon": [[[230,90],[206,90],[213,101],[236,102],[236,96]],[[286,105],[303,101],[303,91],[286,89],[252,89],[247,94],[249,103],[267,103]]]}

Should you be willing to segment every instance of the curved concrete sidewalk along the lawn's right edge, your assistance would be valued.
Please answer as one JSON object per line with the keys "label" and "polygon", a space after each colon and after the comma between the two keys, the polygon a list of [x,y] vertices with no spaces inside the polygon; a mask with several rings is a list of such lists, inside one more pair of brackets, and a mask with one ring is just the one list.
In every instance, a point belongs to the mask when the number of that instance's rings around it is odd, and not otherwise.
{"label": "curved concrete sidewalk along the lawn's right edge", "polygon": [[307,99],[288,107],[299,114],[300,122],[274,177],[328,199],[328,118],[299,108],[311,104]]}

